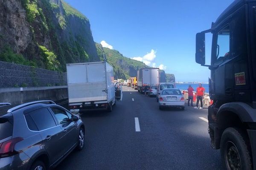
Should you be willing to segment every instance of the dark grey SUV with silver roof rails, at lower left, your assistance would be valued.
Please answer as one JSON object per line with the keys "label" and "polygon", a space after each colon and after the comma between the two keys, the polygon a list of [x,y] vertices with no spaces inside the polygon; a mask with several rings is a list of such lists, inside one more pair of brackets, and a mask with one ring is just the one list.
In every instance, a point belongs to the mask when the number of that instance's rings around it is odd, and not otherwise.
{"label": "dark grey SUV with silver roof rails, at lower left", "polygon": [[52,101],[0,107],[0,170],[47,170],[84,147],[84,124]]}

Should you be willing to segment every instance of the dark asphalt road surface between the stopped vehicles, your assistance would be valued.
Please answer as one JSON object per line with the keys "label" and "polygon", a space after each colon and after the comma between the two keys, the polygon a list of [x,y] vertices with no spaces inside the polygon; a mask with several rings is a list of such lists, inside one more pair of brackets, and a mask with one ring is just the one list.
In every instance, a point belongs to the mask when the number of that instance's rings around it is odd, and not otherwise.
{"label": "dark asphalt road surface between the stopped vehicles", "polygon": [[[134,99],[134,101],[133,101]],[[56,170],[219,170],[219,150],[210,147],[207,108],[160,111],[155,98],[123,87],[111,113],[81,115],[85,147]],[[140,131],[136,132],[135,118]],[[138,128],[138,126],[137,126]],[[137,129],[138,130],[138,129]]]}

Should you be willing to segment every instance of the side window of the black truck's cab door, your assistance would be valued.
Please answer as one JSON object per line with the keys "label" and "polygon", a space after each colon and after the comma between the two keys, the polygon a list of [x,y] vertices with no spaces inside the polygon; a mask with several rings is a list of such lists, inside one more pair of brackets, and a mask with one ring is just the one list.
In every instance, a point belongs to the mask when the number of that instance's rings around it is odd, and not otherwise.
{"label": "side window of the black truck's cab door", "polygon": [[216,62],[224,61],[230,56],[230,27],[226,26],[218,32]]}

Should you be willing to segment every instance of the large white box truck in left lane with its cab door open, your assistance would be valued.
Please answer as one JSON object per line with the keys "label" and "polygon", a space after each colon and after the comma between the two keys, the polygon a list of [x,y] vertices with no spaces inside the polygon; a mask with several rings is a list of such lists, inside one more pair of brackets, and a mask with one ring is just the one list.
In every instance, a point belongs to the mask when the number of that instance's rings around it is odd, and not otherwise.
{"label": "large white box truck in left lane with its cab door open", "polygon": [[107,62],[67,64],[67,86],[69,108],[73,113],[112,111],[116,97],[122,100],[122,96],[116,96],[122,95],[122,86],[114,83],[113,67]]}

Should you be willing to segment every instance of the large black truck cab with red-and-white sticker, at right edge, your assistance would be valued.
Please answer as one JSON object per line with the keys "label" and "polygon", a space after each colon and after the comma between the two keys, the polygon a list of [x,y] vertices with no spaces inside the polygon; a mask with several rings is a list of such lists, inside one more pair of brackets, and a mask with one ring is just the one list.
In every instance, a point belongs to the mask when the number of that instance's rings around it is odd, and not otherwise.
{"label": "large black truck cab with red-and-white sticker, at right edge", "polygon": [[[205,34],[212,34],[206,65]],[[256,0],[235,0],[196,34],[195,60],[211,70],[209,136],[228,170],[256,170]]]}

